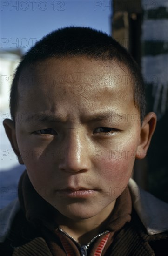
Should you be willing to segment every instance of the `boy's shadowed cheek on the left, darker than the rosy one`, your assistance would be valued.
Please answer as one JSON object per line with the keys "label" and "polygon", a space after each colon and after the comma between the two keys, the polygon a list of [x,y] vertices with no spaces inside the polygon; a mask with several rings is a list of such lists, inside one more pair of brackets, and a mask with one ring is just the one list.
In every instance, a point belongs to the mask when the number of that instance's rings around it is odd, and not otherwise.
{"label": "boy's shadowed cheek on the left, darker than the rosy one", "polygon": [[34,140],[25,140],[21,135],[18,135],[18,141],[21,158],[34,188],[50,188],[51,181],[54,180],[56,162],[61,158],[59,152],[50,148],[47,143],[41,143],[39,146]]}

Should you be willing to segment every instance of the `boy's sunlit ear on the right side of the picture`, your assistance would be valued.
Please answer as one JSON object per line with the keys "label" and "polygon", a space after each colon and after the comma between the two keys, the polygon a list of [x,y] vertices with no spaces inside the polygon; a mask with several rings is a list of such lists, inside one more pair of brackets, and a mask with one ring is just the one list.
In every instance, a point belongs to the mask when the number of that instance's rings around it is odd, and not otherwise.
{"label": "boy's sunlit ear on the right side of the picture", "polygon": [[152,135],[155,131],[156,121],[157,117],[154,112],[149,112],[148,115],[145,116],[141,126],[140,143],[136,154],[137,159],[143,159],[146,156]]}

